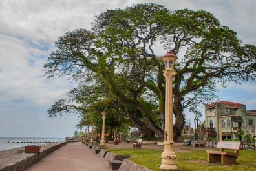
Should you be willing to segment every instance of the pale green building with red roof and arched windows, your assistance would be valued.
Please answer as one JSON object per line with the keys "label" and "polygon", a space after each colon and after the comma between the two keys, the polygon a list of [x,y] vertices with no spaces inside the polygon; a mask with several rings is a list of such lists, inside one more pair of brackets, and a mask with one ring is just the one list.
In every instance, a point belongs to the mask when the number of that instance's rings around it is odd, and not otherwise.
{"label": "pale green building with red roof and arched windows", "polygon": [[[235,139],[237,130],[244,136],[255,137],[256,110],[247,110],[246,105],[230,101],[219,101],[205,106],[205,127],[199,134],[205,139]],[[221,127],[220,127],[221,126]],[[240,139],[241,140],[241,139]]]}

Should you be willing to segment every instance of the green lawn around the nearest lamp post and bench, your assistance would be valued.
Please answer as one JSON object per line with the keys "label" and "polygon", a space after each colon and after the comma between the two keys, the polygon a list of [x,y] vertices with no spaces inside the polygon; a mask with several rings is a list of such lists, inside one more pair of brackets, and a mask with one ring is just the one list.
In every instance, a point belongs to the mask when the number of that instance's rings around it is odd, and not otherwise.
{"label": "green lawn around the nearest lamp post and bench", "polygon": [[[118,155],[130,155],[129,160],[138,165],[145,166],[154,171],[160,171],[162,150],[151,149],[107,149],[109,152]],[[179,170],[197,170],[197,171],[248,171],[256,168],[256,151],[240,150],[240,156],[237,159],[237,165],[221,165],[221,163],[208,163],[208,154],[206,150],[195,150],[187,148],[187,152],[176,152],[176,165]]]}

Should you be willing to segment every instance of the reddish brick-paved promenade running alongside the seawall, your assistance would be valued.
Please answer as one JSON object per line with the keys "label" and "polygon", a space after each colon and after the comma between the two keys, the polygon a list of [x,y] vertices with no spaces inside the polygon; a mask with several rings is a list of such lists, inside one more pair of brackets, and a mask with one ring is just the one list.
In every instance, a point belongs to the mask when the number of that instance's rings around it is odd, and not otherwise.
{"label": "reddish brick-paved promenade running alongside the seawall", "polygon": [[107,161],[81,142],[67,143],[26,171],[110,171]]}

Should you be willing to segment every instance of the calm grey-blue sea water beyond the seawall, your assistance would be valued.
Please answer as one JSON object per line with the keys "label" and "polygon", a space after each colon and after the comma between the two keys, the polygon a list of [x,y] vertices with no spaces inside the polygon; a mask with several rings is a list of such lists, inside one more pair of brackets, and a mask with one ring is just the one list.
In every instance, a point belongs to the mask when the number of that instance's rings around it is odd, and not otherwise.
{"label": "calm grey-blue sea water beyond the seawall", "polygon": [[65,139],[46,137],[0,137],[0,151],[19,148],[26,145],[43,145],[61,141],[65,141]]}

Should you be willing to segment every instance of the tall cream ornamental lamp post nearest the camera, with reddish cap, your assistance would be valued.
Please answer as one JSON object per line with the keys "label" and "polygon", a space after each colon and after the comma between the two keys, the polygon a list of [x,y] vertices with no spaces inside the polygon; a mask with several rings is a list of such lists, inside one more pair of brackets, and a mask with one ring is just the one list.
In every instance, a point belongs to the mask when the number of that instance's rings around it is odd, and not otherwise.
{"label": "tall cream ornamental lamp post nearest the camera, with reddish cap", "polygon": [[168,51],[163,57],[165,70],[164,77],[166,79],[165,92],[165,127],[164,127],[164,152],[161,155],[161,170],[177,170],[176,154],[173,151],[173,77],[176,72],[173,70],[176,57],[173,52]]}

